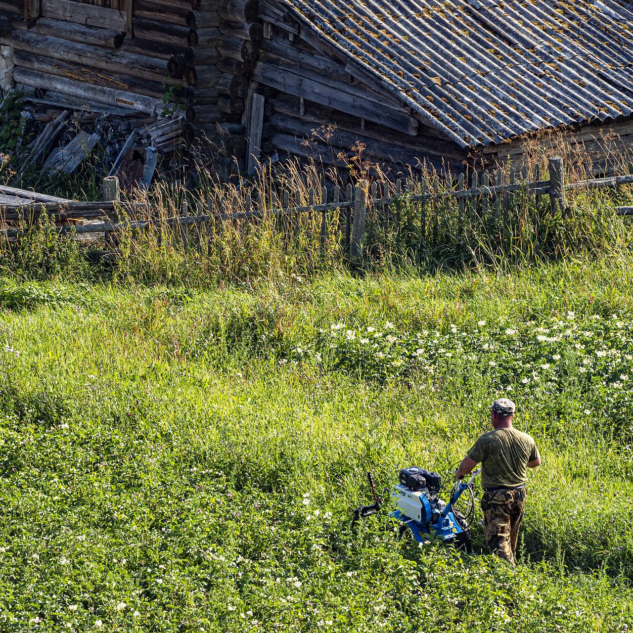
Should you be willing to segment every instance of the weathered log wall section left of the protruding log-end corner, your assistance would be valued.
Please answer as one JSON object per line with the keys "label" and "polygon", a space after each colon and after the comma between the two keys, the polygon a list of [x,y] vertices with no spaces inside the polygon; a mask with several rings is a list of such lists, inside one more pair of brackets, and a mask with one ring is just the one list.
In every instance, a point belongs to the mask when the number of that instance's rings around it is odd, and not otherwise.
{"label": "weathered log wall section left of the protruding log-end corner", "polygon": [[41,0],[27,21],[21,2],[5,0],[0,25],[11,29],[0,44],[12,49],[15,83],[28,95],[157,115],[165,93],[186,97],[187,82],[166,78],[166,65],[187,50],[190,9],[190,0]]}

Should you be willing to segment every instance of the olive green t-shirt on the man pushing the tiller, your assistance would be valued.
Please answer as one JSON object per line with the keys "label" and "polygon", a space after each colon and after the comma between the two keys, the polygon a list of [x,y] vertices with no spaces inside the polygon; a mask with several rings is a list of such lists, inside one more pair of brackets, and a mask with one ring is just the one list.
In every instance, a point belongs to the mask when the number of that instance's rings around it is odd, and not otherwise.
{"label": "olive green t-shirt on the man pushing the tiller", "polygon": [[468,451],[468,457],[481,462],[484,488],[525,486],[527,463],[541,458],[536,442],[514,428],[484,433]]}

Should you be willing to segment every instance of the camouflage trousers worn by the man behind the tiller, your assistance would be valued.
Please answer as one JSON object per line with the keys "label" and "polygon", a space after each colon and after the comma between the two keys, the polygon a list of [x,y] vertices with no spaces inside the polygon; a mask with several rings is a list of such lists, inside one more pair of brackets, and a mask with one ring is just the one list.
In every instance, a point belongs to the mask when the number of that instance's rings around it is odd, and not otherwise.
{"label": "camouflage trousers worn by the man behind the tiller", "polygon": [[481,509],[490,551],[514,567],[518,530],[525,510],[525,488],[484,492]]}

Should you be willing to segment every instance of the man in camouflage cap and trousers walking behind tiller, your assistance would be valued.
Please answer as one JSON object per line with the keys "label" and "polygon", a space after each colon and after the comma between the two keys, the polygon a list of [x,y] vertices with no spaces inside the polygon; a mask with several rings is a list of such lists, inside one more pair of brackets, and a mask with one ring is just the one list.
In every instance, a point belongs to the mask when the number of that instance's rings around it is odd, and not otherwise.
{"label": "man in camouflage cap and trousers walking behind tiller", "polygon": [[525,509],[527,468],[541,465],[536,442],[512,426],[515,410],[507,398],[492,403],[492,430],[479,437],[455,471],[457,479],[462,479],[481,462],[486,540],[492,553],[513,567]]}

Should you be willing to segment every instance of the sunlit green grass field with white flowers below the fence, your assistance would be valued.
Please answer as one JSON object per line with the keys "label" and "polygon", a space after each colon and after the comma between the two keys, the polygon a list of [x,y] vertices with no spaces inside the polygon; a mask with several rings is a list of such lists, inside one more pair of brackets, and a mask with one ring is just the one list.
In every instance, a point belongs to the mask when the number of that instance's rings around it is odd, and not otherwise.
{"label": "sunlit green grass field with white flowers below the fence", "polygon": [[[0,630],[627,630],[632,272],[4,279]],[[517,570],[480,513],[473,556],[350,529],[368,469],[444,472],[501,392],[543,458]]]}

